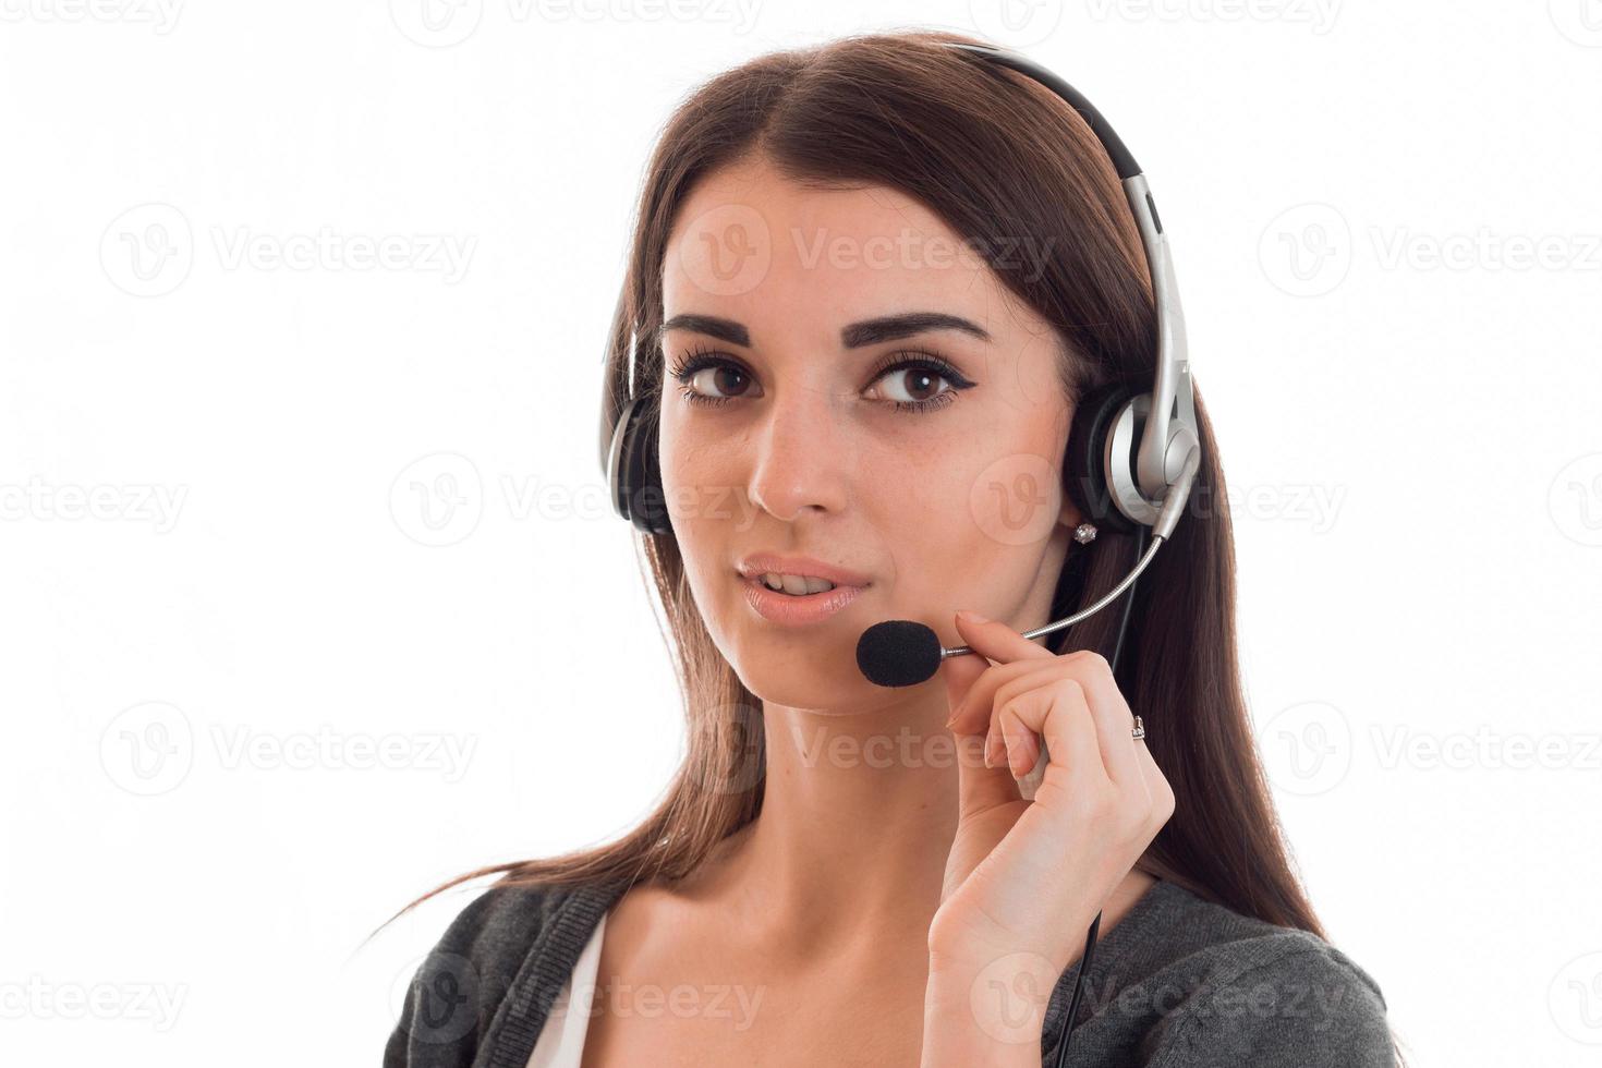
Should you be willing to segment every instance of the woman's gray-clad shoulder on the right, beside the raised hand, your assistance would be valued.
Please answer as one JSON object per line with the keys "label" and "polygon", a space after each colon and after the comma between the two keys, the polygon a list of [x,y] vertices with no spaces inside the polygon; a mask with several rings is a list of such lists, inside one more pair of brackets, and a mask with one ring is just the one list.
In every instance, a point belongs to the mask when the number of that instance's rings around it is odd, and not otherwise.
{"label": "woman's gray-clad shoulder on the right, beside the raised hand", "polygon": [[1171,897],[1187,922],[1169,927],[1166,959],[1139,985],[1160,1020],[1147,1063],[1395,1063],[1379,983],[1346,953],[1185,890]]}

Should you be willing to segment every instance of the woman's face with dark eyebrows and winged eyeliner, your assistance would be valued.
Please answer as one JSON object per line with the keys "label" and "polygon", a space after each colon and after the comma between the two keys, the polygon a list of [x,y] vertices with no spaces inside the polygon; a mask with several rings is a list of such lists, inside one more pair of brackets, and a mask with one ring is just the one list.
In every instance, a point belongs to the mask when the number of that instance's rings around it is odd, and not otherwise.
{"label": "woman's face with dark eyebrows and winged eyeliner", "polygon": [[[1012,258],[1038,271],[1028,248],[1019,235]],[[695,604],[753,693],[811,709],[896,693],[855,666],[881,620],[947,647],[958,608],[1046,621],[1078,522],[1061,344],[899,191],[804,187],[759,157],[697,186],[663,264],[662,482]],[[740,573],[759,552],[865,584],[775,620]]]}

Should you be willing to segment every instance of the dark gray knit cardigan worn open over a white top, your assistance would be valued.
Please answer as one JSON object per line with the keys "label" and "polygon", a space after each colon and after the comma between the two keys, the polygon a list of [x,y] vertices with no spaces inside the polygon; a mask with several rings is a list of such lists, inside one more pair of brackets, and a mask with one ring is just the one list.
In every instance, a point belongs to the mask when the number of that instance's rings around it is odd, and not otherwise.
{"label": "dark gray knit cardigan worn open over a white top", "polygon": [[[384,1068],[525,1068],[623,884],[489,887],[418,967]],[[1080,966],[1053,990],[1041,1063]],[[1317,935],[1157,882],[1096,945],[1070,1065],[1391,1068],[1378,983]]]}

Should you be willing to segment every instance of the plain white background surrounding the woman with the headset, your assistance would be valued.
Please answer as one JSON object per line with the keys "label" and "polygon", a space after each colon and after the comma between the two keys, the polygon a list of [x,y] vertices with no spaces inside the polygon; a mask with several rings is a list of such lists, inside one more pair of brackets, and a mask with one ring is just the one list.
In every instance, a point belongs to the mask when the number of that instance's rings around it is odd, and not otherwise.
{"label": "plain white background surrounding the woman with the headset", "polygon": [[1415,1063],[1602,1054],[1596,0],[0,13],[6,1063],[375,1063],[477,889],[373,927],[652,805],[594,426],[638,181],[702,78],[908,26],[1152,181],[1331,940]]}

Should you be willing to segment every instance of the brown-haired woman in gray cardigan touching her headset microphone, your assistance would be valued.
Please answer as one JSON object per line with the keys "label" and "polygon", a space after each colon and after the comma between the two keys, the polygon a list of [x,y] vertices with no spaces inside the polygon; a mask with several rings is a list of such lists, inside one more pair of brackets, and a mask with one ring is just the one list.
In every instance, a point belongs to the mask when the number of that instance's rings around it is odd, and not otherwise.
{"label": "brown-haired woman in gray cardigan touching her headset microphone", "polygon": [[[763,56],[668,123],[606,416],[650,416],[689,754],[622,841],[439,887],[501,874],[386,1065],[1061,1063],[1069,1018],[1073,1063],[1394,1063],[1264,788],[1200,400],[1128,616],[1022,637],[1144,546],[1086,522],[1064,444],[1152,383],[1153,293],[1089,126],[968,40]],[[891,618],[976,655],[873,685]]]}

